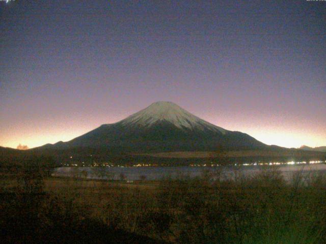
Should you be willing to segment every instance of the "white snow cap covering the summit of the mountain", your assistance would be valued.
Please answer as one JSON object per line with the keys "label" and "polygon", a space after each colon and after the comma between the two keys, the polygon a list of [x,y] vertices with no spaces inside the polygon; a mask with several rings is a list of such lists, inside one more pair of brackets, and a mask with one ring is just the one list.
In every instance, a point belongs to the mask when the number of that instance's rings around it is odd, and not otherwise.
{"label": "white snow cap covering the summit of the mountain", "polygon": [[180,129],[197,128],[226,133],[225,129],[208,123],[172,102],[155,102],[120,122],[124,125],[151,126],[158,121],[167,121]]}

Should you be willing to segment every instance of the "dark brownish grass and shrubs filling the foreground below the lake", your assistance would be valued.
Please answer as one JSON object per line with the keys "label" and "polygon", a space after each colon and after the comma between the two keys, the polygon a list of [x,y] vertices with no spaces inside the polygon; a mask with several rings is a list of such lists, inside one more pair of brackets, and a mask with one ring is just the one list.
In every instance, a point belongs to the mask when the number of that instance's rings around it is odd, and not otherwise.
{"label": "dark brownish grass and shrubs filling the foreground below the lake", "polygon": [[1,174],[0,243],[326,243],[325,175],[221,181],[220,168],[127,184],[54,178],[42,165]]}

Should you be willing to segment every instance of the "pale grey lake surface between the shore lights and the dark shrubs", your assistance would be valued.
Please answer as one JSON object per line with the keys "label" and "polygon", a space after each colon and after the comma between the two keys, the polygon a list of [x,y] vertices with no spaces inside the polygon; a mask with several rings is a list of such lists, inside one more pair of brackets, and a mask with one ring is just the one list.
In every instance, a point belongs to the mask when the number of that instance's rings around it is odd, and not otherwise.
{"label": "pale grey lake surface between the shore lights and the dark shrubs", "polygon": [[[115,180],[124,177],[126,180],[139,180],[141,178],[146,180],[161,180],[167,177],[198,177],[203,175],[205,171],[216,172],[220,167],[104,167],[101,173],[97,167],[60,167],[53,172],[53,176],[67,176],[79,174],[79,177],[87,177],[98,179],[113,178]],[[250,177],[266,169],[264,166],[240,166],[240,167],[224,167],[222,170],[223,179],[234,179],[236,175]],[[297,173],[302,172],[304,176],[314,174],[325,174],[326,164],[310,164],[310,165],[279,165],[269,166],[267,170],[278,169],[286,180],[291,180]],[[101,170],[101,169],[100,169]],[[83,172],[84,171],[84,172]]]}

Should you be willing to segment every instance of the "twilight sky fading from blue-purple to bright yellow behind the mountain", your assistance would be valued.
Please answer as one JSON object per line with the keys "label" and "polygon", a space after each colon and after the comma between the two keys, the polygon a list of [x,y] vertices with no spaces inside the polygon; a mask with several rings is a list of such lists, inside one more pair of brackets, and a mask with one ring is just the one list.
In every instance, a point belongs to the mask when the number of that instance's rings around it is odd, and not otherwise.
{"label": "twilight sky fading from blue-purple to bright yellow behind the mountain", "polygon": [[266,144],[326,145],[326,2],[0,2],[0,145],[172,101]]}

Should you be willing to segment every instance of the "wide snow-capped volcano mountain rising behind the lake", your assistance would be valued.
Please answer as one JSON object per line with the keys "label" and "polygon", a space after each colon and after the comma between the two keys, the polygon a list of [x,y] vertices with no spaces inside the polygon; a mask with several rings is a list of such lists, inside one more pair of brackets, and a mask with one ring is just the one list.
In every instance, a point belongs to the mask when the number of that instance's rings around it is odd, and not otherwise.
{"label": "wide snow-capped volcano mountain rising behind the lake", "polygon": [[155,102],[117,123],[102,125],[68,142],[42,147],[105,148],[135,153],[219,148],[258,149],[266,145],[247,134],[210,124],[175,103]]}

